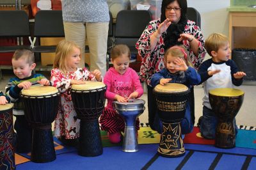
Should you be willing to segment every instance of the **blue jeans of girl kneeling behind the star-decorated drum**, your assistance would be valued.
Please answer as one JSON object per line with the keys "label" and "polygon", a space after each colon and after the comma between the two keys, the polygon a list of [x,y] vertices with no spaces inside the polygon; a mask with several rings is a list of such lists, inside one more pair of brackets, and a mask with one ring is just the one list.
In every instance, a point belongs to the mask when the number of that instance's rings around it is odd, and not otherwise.
{"label": "blue jeans of girl kneeling behind the star-decorated drum", "polygon": [[[156,116],[154,118],[154,129],[161,134],[163,130],[163,123],[159,119],[158,112],[156,110]],[[181,133],[182,134],[189,134],[193,130],[193,122],[191,120],[191,112],[190,112],[190,104],[188,102],[186,106],[185,116],[181,121]]]}

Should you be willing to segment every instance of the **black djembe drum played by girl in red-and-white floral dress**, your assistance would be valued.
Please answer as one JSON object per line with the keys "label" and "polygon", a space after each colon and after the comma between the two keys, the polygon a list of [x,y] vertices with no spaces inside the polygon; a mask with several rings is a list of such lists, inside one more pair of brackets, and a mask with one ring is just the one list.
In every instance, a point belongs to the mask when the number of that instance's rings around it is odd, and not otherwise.
{"label": "black djembe drum played by girl in red-and-white floral dress", "polygon": [[72,85],[72,102],[77,118],[81,120],[79,155],[94,157],[103,152],[99,116],[104,109],[106,89],[103,82],[86,81],[86,84]]}

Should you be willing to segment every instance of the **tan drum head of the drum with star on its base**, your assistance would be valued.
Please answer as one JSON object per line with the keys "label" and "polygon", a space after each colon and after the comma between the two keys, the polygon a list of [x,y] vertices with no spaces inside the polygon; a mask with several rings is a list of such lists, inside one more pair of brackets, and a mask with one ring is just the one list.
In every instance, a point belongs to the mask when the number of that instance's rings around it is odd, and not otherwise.
{"label": "tan drum head of the drum with star on its base", "polygon": [[161,84],[158,84],[154,88],[154,91],[159,93],[179,93],[179,92],[188,91],[188,87],[185,86],[184,84],[179,84],[179,83],[166,83],[164,84],[164,86]]}

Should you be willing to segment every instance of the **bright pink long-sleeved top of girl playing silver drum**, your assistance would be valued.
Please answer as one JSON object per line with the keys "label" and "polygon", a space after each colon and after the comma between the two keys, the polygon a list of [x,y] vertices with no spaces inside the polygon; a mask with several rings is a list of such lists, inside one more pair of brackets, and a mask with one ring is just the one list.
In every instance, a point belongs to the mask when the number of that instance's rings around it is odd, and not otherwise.
{"label": "bright pink long-sleeved top of girl playing silver drum", "polygon": [[104,84],[107,85],[108,109],[113,109],[112,103],[116,94],[122,97],[129,97],[132,92],[137,91],[139,93],[138,98],[143,95],[139,76],[132,68],[127,68],[123,75],[116,72],[115,68],[109,68],[104,77]]}

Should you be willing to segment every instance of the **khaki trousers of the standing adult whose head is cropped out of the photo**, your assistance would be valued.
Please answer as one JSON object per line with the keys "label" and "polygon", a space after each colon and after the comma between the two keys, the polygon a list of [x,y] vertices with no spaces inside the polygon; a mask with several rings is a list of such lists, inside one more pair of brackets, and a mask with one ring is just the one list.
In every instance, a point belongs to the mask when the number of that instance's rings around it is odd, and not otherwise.
{"label": "khaki trousers of the standing adult whose head is cropped out of the photo", "polygon": [[82,49],[79,67],[84,67],[84,48],[86,36],[90,50],[90,70],[98,69],[106,73],[106,54],[109,22],[63,22],[65,39],[74,41]]}

